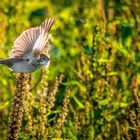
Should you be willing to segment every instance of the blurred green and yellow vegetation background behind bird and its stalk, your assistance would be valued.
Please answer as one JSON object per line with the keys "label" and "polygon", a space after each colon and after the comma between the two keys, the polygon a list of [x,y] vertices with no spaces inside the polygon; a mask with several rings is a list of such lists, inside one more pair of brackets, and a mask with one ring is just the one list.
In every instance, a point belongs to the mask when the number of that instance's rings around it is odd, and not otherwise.
{"label": "blurred green and yellow vegetation background behind bird and its stalk", "polygon": [[[20,140],[140,138],[139,0],[3,0],[0,57],[48,17],[48,69],[31,75]],[[0,65],[0,139],[6,139],[16,80]]]}

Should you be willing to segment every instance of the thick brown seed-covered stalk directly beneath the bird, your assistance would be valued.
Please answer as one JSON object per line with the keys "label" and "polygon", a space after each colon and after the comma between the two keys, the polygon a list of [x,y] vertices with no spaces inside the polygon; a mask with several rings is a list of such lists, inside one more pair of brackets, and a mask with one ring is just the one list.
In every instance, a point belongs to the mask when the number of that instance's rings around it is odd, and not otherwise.
{"label": "thick brown seed-covered stalk directly beneath the bird", "polygon": [[22,126],[24,99],[29,90],[29,74],[20,73],[17,78],[16,92],[13,97],[12,109],[9,118],[8,140],[17,140]]}

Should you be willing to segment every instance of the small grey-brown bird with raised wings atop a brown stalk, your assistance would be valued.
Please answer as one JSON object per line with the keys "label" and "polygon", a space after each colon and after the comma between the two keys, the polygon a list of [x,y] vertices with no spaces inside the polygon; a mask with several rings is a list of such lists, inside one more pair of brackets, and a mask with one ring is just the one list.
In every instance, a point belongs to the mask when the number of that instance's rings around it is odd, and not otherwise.
{"label": "small grey-brown bird with raised wings atop a brown stalk", "polygon": [[31,73],[48,66],[50,57],[43,50],[49,45],[49,31],[55,21],[54,18],[48,18],[40,26],[26,29],[14,41],[9,58],[0,58],[0,64],[8,66],[16,73]]}

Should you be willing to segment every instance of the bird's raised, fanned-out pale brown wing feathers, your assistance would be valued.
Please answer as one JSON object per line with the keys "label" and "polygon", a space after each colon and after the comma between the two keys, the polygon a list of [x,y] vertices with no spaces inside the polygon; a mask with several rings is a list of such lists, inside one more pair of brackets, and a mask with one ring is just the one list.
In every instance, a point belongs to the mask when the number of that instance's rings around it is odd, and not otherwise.
{"label": "bird's raised, fanned-out pale brown wing feathers", "polygon": [[55,19],[46,19],[40,26],[25,30],[14,42],[10,58],[39,57],[49,40],[49,30]]}

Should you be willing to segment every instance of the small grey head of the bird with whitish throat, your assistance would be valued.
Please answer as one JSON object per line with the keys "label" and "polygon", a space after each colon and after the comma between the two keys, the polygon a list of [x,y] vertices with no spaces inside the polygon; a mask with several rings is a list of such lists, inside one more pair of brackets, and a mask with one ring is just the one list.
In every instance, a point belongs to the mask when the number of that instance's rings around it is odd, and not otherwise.
{"label": "small grey head of the bird with whitish throat", "polygon": [[46,54],[40,54],[40,58],[38,60],[38,67],[48,66],[50,63],[50,57]]}

